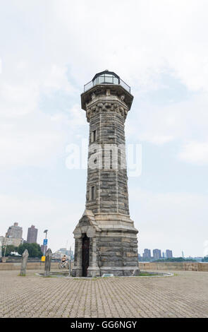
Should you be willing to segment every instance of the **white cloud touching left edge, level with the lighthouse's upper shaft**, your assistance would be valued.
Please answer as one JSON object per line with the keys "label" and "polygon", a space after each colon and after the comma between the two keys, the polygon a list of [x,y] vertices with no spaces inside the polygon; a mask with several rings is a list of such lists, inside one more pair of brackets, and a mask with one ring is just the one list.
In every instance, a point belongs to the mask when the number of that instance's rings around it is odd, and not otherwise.
{"label": "white cloud touching left edge, level with the lighthouse's upper shaft", "polygon": [[[45,128],[39,126],[37,119]],[[64,137],[52,126],[49,117],[36,113],[36,117],[13,122],[4,126],[0,134],[0,168],[10,169],[27,166],[46,166],[55,161],[57,150],[61,150]]]}

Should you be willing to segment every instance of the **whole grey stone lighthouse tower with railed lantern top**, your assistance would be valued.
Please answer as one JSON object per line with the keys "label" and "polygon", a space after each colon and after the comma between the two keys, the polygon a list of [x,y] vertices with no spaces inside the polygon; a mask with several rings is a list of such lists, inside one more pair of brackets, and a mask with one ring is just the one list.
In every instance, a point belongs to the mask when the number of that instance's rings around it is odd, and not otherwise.
{"label": "whole grey stone lighthouse tower with railed lantern top", "polygon": [[97,73],[84,87],[90,123],[85,212],[73,232],[73,276],[138,275],[137,230],[128,208],[124,124],[133,102],[116,73]]}

